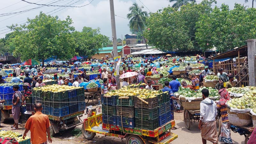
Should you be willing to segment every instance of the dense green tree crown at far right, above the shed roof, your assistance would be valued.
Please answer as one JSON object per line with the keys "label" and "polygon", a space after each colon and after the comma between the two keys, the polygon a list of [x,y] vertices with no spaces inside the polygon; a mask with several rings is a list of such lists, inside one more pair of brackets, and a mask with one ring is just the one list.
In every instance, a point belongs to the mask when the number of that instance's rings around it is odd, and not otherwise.
{"label": "dense green tree crown at far right, above the shed roof", "polygon": [[234,9],[229,10],[228,5],[222,4],[210,14],[200,16],[196,23],[196,40],[201,47],[209,43],[220,51],[245,45],[245,40],[255,38],[255,19],[255,8],[245,10],[243,5],[235,4]]}

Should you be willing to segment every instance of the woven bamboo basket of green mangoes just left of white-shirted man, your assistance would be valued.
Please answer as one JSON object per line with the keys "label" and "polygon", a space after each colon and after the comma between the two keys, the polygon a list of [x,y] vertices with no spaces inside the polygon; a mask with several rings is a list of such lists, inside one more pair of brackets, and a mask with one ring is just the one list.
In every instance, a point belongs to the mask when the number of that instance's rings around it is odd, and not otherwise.
{"label": "woven bamboo basket of green mangoes just left of white-shirted man", "polygon": [[192,101],[188,101],[183,97],[180,97],[180,101],[182,101],[182,106],[184,109],[189,109],[189,110],[198,110],[200,109],[200,102],[202,101],[202,99],[200,100],[192,100]]}

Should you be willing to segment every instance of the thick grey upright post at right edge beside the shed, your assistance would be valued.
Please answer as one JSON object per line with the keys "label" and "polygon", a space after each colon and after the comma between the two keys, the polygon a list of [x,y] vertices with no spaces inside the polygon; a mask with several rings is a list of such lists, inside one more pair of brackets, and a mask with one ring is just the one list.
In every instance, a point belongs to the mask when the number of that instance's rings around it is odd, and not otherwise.
{"label": "thick grey upright post at right edge beside the shed", "polygon": [[256,54],[256,39],[247,40],[248,46],[248,68],[249,68],[249,86],[256,86],[256,61],[255,61],[255,54]]}

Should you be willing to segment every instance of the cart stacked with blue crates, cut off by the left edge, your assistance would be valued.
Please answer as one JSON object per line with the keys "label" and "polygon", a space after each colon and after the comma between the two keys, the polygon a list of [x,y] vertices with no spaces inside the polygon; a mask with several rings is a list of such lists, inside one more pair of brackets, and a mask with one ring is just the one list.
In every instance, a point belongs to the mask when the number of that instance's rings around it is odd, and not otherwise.
{"label": "cart stacked with blue crates, cut off by the left edge", "polygon": [[[19,91],[23,91],[22,83],[4,83],[0,84],[0,98],[1,100],[5,100],[3,103],[3,108],[1,110],[1,123],[7,121],[7,119],[12,115],[12,95],[14,93],[12,89],[12,85],[19,85]],[[23,106],[24,107],[24,106]]]}

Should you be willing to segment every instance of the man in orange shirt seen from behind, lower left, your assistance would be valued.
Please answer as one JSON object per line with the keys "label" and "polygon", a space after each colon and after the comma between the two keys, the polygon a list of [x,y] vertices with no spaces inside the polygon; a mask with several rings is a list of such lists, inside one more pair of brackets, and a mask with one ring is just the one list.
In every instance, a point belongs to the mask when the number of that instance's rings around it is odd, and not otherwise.
{"label": "man in orange shirt seen from behind, lower left", "polygon": [[48,142],[52,143],[50,134],[50,121],[47,115],[42,114],[42,104],[36,103],[35,110],[36,113],[28,118],[25,125],[25,132],[23,134],[23,139],[27,136],[28,131],[31,132],[31,142],[32,144],[47,144],[46,132],[48,134]]}

